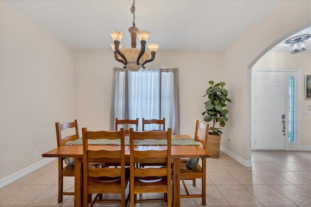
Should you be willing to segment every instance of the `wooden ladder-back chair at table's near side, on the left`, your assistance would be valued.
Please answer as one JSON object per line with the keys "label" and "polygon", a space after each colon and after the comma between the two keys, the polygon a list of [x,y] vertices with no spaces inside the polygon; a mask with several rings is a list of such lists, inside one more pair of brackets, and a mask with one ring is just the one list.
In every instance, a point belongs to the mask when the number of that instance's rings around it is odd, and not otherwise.
{"label": "wooden ladder-back chair at table's near side, on the left", "polygon": [[[88,194],[96,194],[90,207],[96,203],[120,203],[125,207],[129,198],[125,189],[129,183],[129,168],[125,168],[125,138],[124,128],[120,131],[87,131],[82,128],[83,138],[83,193],[84,198]],[[121,145],[118,150],[101,150],[100,146],[91,150],[88,139],[120,139]],[[89,163],[119,162],[120,167],[91,168]],[[121,199],[104,199],[103,194],[118,193]],[[88,207],[87,199],[84,199],[84,207]]]}

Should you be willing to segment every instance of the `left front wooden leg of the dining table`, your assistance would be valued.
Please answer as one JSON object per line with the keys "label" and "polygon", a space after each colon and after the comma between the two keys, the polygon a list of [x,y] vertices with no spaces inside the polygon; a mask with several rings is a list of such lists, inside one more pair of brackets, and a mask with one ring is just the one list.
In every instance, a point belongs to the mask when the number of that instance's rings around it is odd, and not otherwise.
{"label": "left front wooden leg of the dining table", "polygon": [[82,207],[82,191],[81,191],[81,163],[82,158],[74,159],[74,207]]}

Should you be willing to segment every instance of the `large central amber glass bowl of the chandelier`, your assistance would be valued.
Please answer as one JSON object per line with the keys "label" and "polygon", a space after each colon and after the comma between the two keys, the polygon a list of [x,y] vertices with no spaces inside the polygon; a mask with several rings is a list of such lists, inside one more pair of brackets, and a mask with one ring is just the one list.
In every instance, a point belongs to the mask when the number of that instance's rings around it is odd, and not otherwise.
{"label": "large central amber glass bowl of the chandelier", "polygon": [[131,71],[139,70],[141,68],[142,63],[151,57],[150,52],[145,51],[139,60],[139,65],[137,65],[136,61],[137,61],[137,57],[138,57],[138,54],[140,52],[140,49],[138,49],[138,48],[123,48],[120,51],[124,54],[124,56],[127,60],[126,68],[128,70],[131,70]]}

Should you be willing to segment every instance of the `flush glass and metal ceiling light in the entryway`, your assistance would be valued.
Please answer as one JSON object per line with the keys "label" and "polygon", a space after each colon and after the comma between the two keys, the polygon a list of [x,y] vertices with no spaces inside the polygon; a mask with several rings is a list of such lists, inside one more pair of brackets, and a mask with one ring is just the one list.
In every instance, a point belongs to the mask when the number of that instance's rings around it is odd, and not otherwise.
{"label": "flush glass and metal ceiling light in the entryway", "polygon": [[308,48],[308,44],[304,41],[309,39],[311,35],[298,35],[291,37],[284,41],[285,44],[290,44],[291,46],[288,49],[288,52],[291,54],[297,54],[300,52],[305,52]]}

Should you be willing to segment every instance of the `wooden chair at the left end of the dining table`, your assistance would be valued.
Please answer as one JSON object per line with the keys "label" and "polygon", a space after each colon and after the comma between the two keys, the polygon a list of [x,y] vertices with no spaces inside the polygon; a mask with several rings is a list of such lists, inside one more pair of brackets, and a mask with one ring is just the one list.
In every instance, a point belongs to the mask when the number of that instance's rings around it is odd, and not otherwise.
{"label": "wooden chair at the left end of the dining table", "polygon": [[[74,120],[73,122],[65,122],[60,123],[56,122],[56,138],[57,138],[57,147],[60,147],[62,145],[65,145],[67,142],[75,140],[79,138],[79,124],[77,120]],[[75,132],[71,132],[71,135],[62,137],[62,131],[74,128]],[[67,133],[69,134],[69,132]],[[63,201],[63,195],[74,195],[73,192],[64,191],[64,177],[74,176],[74,165],[64,165],[65,157],[58,158],[58,203],[61,203]]]}

